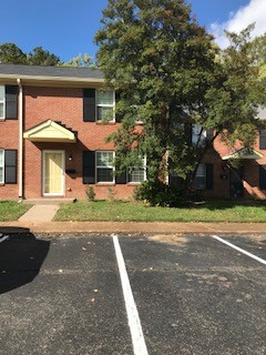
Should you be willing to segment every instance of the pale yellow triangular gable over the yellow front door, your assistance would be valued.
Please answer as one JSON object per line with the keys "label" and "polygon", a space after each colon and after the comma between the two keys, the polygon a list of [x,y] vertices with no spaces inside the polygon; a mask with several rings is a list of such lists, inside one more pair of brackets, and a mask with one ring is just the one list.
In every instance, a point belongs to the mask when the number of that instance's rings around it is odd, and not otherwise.
{"label": "pale yellow triangular gable over the yellow front door", "polygon": [[62,124],[48,120],[24,132],[23,138],[31,142],[75,143],[74,132]]}

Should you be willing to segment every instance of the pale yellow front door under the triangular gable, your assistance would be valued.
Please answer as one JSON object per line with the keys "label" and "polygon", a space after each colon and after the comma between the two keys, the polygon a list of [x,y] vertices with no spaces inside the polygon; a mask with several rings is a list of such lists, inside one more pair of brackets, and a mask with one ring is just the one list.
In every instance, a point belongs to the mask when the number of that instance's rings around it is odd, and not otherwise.
{"label": "pale yellow front door under the triangular gable", "polygon": [[43,195],[64,195],[64,152],[43,151]]}

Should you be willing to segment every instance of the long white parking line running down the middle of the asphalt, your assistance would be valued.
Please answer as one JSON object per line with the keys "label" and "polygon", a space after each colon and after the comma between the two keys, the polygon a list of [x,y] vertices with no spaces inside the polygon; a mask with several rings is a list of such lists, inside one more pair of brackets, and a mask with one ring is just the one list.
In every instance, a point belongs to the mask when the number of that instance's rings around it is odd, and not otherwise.
{"label": "long white parking line running down the middle of the asphalt", "polygon": [[127,313],[129,326],[131,331],[133,351],[135,355],[147,355],[147,348],[142,332],[141,321],[139,317],[139,312],[136,310],[134,296],[130,284],[130,278],[125,268],[124,257],[120,247],[117,235],[113,235],[113,243],[119,265],[122,290],[124,294],[124,302]]}

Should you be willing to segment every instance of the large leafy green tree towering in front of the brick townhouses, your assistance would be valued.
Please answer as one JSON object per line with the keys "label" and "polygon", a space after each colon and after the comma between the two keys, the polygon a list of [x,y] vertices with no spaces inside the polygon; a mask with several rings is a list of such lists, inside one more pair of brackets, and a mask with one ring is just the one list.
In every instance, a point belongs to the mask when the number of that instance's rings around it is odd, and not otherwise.
{"label": "large leafy green tree towering in front of the brick townhouses", "polygon": [[[221,52],[184,0],[109,0],[102,23],[98,64],[120,95],[122,125],[108,138],[119,173],[146,155],[151,183],[174,171],[187,191],[218,134],[253,144],[265,87],[247,55],[249,29],[228,34],[232,45]],[[192,128],[200,128],[196,141]]]}

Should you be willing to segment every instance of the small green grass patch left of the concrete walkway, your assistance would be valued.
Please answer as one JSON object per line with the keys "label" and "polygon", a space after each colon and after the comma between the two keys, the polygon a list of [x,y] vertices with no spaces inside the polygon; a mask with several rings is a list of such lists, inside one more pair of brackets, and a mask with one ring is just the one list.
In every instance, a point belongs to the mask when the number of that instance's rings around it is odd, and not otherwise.
{"label": "small green grass patch left of the concrete walkway", "polygon": [[0,201],[0,222],[17,221],[29,209],[30,205],[16,201]]}

